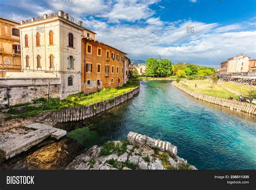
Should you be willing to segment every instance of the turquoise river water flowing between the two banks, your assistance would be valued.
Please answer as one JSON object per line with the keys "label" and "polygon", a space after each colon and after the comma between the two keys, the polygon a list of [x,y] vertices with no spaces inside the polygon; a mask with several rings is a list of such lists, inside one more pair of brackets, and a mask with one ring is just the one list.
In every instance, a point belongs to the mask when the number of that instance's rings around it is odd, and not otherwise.
{"label": "turquoise river water flowing between the two banks", "polygon": [[198,169],[256,169],[255,117],[203,103],[171,85],[143,81],[131,100],[82,122],[62,124],[84,147],[125,139],[129,131],[178,147]]}

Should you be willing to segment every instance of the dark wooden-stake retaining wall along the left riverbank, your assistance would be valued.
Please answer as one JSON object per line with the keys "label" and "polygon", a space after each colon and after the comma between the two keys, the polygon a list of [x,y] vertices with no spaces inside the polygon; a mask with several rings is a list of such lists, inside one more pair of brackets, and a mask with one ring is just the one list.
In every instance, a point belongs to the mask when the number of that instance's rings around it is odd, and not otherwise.
{"label": "dark wooden-stake retaining wall along the left riverbank", "polygon": [[91,105],[86,105],[84,107],[55,111],[52,112],[52,120],[59,123],[64,123],[75,122],[86,118],[90,118],[92,116],[95,116],[96,114],[99,114],[102,111],[108,110],[119,105],[120,103],[123,103],[124,101],[132,98],[138,92],[139,87],[127,93],[121,94],[119,96],[115,96],[104,101],[93,103]]}

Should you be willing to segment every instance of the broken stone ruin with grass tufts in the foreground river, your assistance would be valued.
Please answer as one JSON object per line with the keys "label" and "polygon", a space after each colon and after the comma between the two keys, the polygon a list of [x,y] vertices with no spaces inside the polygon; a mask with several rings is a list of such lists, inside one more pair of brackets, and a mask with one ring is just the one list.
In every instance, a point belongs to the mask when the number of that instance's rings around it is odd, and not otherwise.
{"label": "broken stone ruin with grass tufts in the foreground river", "polygon": [[177,156],[169,142],[129,132],[126,140],[92,146],[80,154],[66,170],[197,170]]}

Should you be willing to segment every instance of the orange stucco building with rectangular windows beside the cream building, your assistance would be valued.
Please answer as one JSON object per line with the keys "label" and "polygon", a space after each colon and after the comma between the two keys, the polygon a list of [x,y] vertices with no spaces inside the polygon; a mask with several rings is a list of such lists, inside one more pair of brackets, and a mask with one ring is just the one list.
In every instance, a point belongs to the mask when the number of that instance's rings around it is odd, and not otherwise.
{"label": "orange stucco building with rectangular windows beside the cream building", "polygon": [[81,46],[82,92],[124,85],[126,53],[90,37],[83,37]]}

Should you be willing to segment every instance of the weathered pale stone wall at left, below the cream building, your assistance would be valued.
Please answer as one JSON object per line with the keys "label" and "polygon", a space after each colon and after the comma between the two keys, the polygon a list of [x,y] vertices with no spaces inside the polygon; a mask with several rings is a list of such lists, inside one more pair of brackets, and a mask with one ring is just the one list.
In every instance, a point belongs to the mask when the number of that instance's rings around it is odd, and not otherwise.
{"label": "weathered pale stone wall at left, below the cream building", "polygon": [[32,102],[40,97],[46,97],[50,82],[50,97],[59,97],[59,79],[28,79],[0,78],[0,107],[8,104]]}

